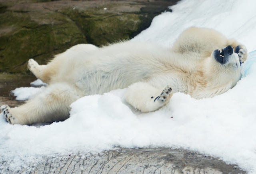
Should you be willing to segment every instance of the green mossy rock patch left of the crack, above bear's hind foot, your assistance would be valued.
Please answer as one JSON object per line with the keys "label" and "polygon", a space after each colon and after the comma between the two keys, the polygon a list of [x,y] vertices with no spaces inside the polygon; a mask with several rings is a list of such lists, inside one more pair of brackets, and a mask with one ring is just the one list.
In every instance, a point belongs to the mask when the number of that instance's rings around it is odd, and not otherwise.
{"label": "green mossy rock patch left of the crack, above bear's hind foot", "polygon": [[16,25],[10,25],[12,33],[0,37],[1,71],[24,72],[30,58],[44,64],[54,54],[86,42],[84,35],[72,21],[64,21],[58,25],[37,24],[24,15],[20,18],[11,14],[8,16],[12,22],[16,21]]}

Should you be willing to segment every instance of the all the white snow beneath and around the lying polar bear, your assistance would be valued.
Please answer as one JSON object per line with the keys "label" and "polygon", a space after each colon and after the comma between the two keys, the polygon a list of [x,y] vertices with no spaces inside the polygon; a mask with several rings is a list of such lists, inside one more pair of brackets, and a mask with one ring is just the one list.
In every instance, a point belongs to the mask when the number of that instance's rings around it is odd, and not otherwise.
{"label": "all the white snow beneath and around the lying polar bear", "polygon": [[[78,99],[71,105],[69,119],[51,125],[10,125],[1,114],[2,158],[11,162],[10,168],[19,168],[23,160],[40,155],[165,146],[219,157],[256,173],[255,6],[253,0],[182,0],[171,7],[172,13],[156,16],[150,28],[132,40],[168,47],[190,26],[214,28],[236,38],[251,52],[244,77],[226,93],[201,100],[175,93],[162,109],[140,113],[125,103],[126,89],[118,89]],[[13,92],[17,99],[26,99],[43,88]]]}

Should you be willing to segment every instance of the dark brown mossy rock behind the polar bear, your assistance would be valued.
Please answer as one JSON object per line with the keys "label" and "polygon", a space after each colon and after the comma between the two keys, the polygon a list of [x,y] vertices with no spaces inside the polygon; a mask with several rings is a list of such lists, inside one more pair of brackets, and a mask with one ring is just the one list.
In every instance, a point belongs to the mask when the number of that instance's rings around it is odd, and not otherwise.
{"label": "dark brown mossy rock behind the polar bear", "polygon": [[0,0],[0,72],[28,73],[78,43],[128,40],[178,0]]}

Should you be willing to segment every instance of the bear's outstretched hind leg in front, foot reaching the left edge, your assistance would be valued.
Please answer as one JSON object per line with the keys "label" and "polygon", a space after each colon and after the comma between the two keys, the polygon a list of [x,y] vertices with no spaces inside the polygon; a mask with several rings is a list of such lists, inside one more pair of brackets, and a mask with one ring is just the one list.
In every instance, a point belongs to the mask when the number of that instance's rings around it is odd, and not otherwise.
{"label": "bear's outstretched hind leg in front, foot reaching the left edge", "polygon": [[66,83],[49,85],[36,97],[19,107],[1,107],[6,121],[11,124],[63,121],[69,117],[70,104],[80,98],[76,89]]}

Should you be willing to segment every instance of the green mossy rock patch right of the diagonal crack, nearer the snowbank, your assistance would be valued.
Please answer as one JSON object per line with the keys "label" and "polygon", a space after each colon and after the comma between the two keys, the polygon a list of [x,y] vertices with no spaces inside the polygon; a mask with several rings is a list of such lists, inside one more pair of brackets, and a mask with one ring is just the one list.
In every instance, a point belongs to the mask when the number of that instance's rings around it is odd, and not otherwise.
{"label": "green mossy rock patch right of the diagonal crack, nearer the snowbank", "polygon": [[94,45],[106,45],[118,40],[128,40],[141,24],[140,14],[94,14],[96,9],[80,12],[66,9],[63,13],[70,16],[83,32],[86,40]]}

